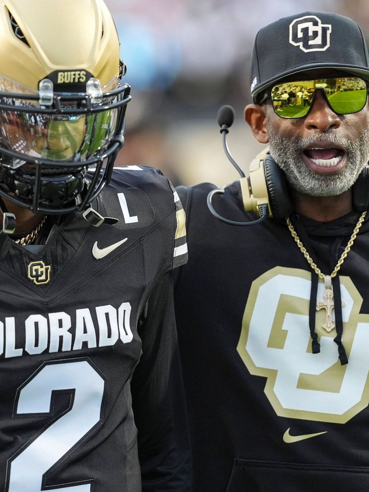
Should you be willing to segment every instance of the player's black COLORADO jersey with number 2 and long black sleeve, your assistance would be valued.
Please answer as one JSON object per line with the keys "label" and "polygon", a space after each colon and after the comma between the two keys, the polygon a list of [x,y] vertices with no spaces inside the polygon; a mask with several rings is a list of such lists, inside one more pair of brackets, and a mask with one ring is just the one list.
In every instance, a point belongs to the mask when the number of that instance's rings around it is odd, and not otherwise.
{"label": "player's black COLORADO jersey with number 2 and long black sleeve", "polygon": [[137,166],[92,206],[119,222],[68,215],[45,246],[0,253],[0,489],[139,492],[139,456],[144,491],[187,491],[170,279],[184,211]]}

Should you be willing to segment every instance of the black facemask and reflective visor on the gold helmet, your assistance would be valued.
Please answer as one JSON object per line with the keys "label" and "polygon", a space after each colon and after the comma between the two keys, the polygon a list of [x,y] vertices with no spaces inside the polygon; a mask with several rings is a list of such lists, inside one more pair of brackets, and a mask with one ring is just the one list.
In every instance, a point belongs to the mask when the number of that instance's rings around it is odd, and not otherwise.
{"label": "black facemask and reflective visor on the gold helmet", "polygon": [[44,214],[85,210],[123,145],[130,87],[120,78],[101,88],[91,77],[88,92],[54,92],[46,78],[35,92],[0,76],[0,196]]}

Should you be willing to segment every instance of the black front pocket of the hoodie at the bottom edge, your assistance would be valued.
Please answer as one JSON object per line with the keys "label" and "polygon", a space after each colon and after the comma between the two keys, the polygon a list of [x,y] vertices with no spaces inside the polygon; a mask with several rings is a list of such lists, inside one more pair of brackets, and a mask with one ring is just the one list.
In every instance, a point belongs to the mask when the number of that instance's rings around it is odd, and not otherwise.
{"label": "black front pocket of the hoodie at the bottom edge", "polygon": [[236,458],[226,492],[369,492],[369,467]]}

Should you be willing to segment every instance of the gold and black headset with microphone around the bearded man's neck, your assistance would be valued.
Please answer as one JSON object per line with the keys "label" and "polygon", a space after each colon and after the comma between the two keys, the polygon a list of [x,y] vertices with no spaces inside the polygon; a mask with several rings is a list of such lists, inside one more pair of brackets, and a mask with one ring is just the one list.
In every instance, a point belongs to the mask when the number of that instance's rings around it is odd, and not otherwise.
{"label": "gold and black headset with microphone around the bearded man's neck", "polygon": [[[268,217],[286,219],[293,213],[286,175],[277,165],[269,148],[258,154],[251,162],[249,177],[237,165],[229,152],[226,136],[228,128],[234,121],[234,110],[231,106],[222,106],[218,112],[218,124],[223,136],[223,149],[228,159],[239,172],[241,179],[241,193],[246,212],[256,212],[260,217],[251,222],[236,222],[219,215],[212,204],[213,196],[224,193],[223,188],[217,188],[208,195],[210,212],[222,222],[230,225],[253,225],[262,222]],[[352,206],[354,210],[363,212],[369,208],[369,166],[366,165],[358,179],[352,186]]]}

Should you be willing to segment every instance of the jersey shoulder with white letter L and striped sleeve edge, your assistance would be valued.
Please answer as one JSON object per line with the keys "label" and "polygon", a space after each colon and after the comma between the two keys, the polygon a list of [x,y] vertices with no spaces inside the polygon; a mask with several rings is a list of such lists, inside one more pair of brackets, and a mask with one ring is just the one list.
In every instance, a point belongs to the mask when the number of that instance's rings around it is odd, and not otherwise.
{"label": "jersey shoulder with white letter L and striped sleeve edge", "polygon": [[173,243],[172,268],[187,261],[185,214],[177,192],[158,169],[123,166],[99,195],[99,208],[119,218],[117,227],[141,236],[160,230],[162,242]]}

